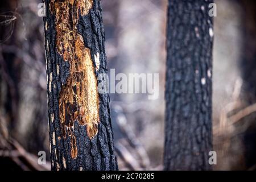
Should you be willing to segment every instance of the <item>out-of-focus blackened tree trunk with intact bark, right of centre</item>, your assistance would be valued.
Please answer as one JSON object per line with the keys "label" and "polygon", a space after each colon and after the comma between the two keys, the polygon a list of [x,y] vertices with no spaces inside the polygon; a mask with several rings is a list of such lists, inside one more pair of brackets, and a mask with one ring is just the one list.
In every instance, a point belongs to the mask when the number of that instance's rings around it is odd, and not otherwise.
{"label": "out-of-focus blackened tree trunk with intact bark, right of centre", "polygon": [[209,170],[212,150],[212,1],[169,0],[166,170]]}

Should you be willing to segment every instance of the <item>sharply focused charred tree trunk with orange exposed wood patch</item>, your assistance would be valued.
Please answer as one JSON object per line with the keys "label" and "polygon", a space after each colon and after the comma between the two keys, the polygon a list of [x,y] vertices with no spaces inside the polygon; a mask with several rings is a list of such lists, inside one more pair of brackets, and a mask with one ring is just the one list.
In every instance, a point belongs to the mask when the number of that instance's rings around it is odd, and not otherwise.
{"label": "sharply focused charred tree trunk with orange exposed wood patch", "polygon": [[45,3],[51,168],[116,170],[100,0]]}

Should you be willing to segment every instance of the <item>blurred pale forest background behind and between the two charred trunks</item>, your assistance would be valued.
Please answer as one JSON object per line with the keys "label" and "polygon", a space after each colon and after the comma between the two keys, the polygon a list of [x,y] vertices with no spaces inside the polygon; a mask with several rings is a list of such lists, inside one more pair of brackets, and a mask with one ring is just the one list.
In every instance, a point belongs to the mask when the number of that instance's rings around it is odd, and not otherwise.
{"label": "blurred pale forest background behind and between the two charred trunks", "polygon": [[[216,170],[256,169],[255,2],[216,0]],[[0,168],[47,170],[46,68],[40,0],[0,2]],[[108,68],[159,73],[159,98],[110,94],[119,169],[163,169],[167,0],[102,0]],[[3,165],[4,164],[4,165]]]}

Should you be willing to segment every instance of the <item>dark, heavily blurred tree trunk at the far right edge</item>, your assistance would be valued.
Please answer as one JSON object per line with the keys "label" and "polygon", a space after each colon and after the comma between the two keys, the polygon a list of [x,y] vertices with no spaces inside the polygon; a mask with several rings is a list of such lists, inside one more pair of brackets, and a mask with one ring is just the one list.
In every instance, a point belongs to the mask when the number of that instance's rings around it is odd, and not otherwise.
{"label": "dark, heavily blurred tree trunk at the far right edge", "polygon": [[[242,98],[248,105],[256,102],[256,3],[255,1],[242,0],[243,9],[243,46],[241,69],[243,79]],[[247,119],[247,130],[243,137],[245,164],[247,168],[254,167],[256,163],[256,121],[255,114]]]}

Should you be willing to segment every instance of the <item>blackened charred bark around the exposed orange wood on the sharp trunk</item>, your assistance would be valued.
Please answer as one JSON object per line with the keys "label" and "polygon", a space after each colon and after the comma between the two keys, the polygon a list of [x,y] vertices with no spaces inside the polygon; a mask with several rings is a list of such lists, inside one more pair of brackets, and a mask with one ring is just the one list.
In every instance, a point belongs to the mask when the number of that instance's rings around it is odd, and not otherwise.
{"label": "blackened charred bark around the exposed orange wood on the sharp trunk", "polygon": [[[69,12],[69,14],[72,14],[70,15],[71,17],[69,17],[71,19],[68,21],[70,27],[72,27],[72,23],[76,21],[76,17],[73,16],[76,16],[74,9],[79,6],[78,2],[87,3],[89,1],[90,0],[86,2],[75,1],[75,5],[69,9],[73,11]],[[59,40],[56,40],[58,34],[57,23],[59,22],[56,21],[56,10],[51,7],[54,5],[51,5],[51,0],[46,0],[44,3],[46,4],[44,24],[46,34],[51,168],[52,170],[117,170],[117,157],[114,154],[113,130],[110,119],[108,94],[98,94],[100,121],[97,125],[98,132],[96,135],[93,137],[90,136],[88,133],[89,126],[82,125],[77,119],[71,122],[69,119],[72,118],[66,117],[66,121],[64,122],[65,126],[62,126],[59,100],[61,90],[64,89],[63,85],[68,84],[67,80],[71,72],[71,60],[64,60],[64,55],[60,55],[57,47],[59,46],[57,45]],[[55,3],[64,4],[63,1],[55,1]],[[68,1],[68,3],[72,6],[71,1]],[[63,9],[59,10],[64,11]],[[89,9],[88,14],[82,15],[82,11],[84,11],[84,9],[77,11],[79,12],[79,16],[73,30],[77,31],[77,35],[79,34],[83,39],[84,47],[90,50],[90,59],[92,59],[95,68],[93,72],[97,77],[99,74],[107,72],[104,47],[105,37],[100,0],[93,0],[93,5]],[[64,16],[63,18],[65,18]],[[74,33],[71,32],[71,34]],[[80,40],[77,41],[81,42]],[[69,48],[72,46],[73,44],[71,46],[69,45]],[[79,48],[81,48],[83,45],[79,46]],[[77,51],[77,48],[74,49]],[[82,52],[85,51],[84,49]],[[79,56],[80,53],[81,52],[75,55],[75,59],[79,59],[77,56]],[[99,57],[99,63],[97,63],[97,57]],[[97,84],[99,83],[100,81],[97,81]],[[70,108],[68,108],[68,110],[69,109]],[[76,108],[71,108],[71,111],[77,110]]]}

